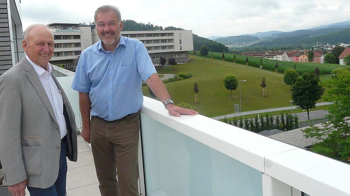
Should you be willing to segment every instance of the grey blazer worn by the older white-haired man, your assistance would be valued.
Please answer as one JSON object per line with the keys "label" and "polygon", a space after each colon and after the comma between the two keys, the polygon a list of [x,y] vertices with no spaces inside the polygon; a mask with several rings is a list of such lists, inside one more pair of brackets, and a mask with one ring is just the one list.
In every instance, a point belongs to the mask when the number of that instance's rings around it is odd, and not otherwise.
{"label": "grey blazer worn by the older white-haired man", "polygon": [[[61,85],[68,113],[72,152],[77,161],[77,133],[72,107]],[[70,126],[70,127],[69,127]],[[73,130],[73,131],[72,131]],[[26,57],[0,76],[0,160],[7,185],[48,188],[58,176],[61,136],[50,100]]]}

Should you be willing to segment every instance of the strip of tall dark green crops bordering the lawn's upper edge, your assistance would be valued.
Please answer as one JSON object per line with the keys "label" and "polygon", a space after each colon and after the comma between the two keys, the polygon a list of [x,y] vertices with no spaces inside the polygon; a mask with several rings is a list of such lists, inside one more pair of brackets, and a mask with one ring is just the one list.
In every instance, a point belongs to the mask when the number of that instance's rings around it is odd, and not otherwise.
{"label": "strip of tall dark green crops bordering the lawn's upper edge", "polygon": [[[193,54],[193,52],[190,52]],[[200,55],[197,52],[197,55]],[[239,54],[229,54],[225,53],[225,61],[233,62],[233,56],[236,55],[236,63],[240,63],[245,65],[245,59],[247,56],[239,55]],[[222,53],[213,52],[214,59],[222,60]],[[207,55],[208,58],[211,58],[211,52]],[[336,64],[328,64],[328,63],[309,63],[309,62],[286,62],[286,61],[276,61],[271,59],[264,59],[259,57],[248,57],[248,66],[252,67],[260,67],[260,59],[262,60],[262,67],[265,70],[275,70],[275,63],[278,62],[278,71],[284,72],[286,68],[294,68],[299,74],[304,73],[305,71],[313,71],[316,67],[320,68],[321,74],[330,74],[333,69],[336,68],[348,68],[345,65],[336,65]]]}

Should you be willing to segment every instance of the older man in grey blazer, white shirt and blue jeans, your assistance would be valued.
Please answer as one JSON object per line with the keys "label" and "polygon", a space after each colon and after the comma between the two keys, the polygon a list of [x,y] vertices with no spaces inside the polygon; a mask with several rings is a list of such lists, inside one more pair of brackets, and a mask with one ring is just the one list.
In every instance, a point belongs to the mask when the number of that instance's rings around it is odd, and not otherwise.
{"label": "older man in grey blazer, white shirt and blue jeans", "polygon": [[0,160],[13,196],[64,196],[67,162],[77,161],[72,107],[52,72],[54,36],[46,25],[25,31],[26,52],[0,76]]}

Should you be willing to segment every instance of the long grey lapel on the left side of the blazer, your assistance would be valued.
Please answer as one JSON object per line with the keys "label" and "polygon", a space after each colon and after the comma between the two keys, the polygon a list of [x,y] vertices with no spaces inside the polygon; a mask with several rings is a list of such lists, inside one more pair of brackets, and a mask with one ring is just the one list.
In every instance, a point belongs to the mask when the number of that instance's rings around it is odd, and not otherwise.
{"label": "long grey lapel on the left side of the blazer", "polygon": [[26,56],[23,57],[22,61],[23,61],[23,63],[22,63],[23,68],[26,71],[28,71],[27,77],[28,77],[30,83],[33,85],[34,89],[36,90],[36,92],[38,93],[39,97],[43,101],[43,103],[44,103],[45,107],[47,108],[47,110],[49,111],[52,119],[54,119],[55,122],[57,123],[57,119],[56,119],[56,116],[55,116],[54,109],[52,108],[52,105],[50,103],[49,97],[47,96],[46,91],[45,91],[43,85],[41,84],[41,82],[39,80],[38,75],[36,74],[34,68],[30,65],[28,60],[26,59]]}

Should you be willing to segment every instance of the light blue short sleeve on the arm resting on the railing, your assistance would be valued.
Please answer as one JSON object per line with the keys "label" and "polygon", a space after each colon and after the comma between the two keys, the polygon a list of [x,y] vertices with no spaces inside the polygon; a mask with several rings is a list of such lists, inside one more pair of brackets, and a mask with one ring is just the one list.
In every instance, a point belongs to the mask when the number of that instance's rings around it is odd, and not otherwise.
{"label": "light blue short sleeve on the arm resting on the railing", "polygon": [[149,57],[144,44],[140,42],[135,47],[136,66],[142,80],[146,81],[149,78],[149,76],[151,76],[154,73],[157,73],[157,71],[154,68],[152,60]]}

